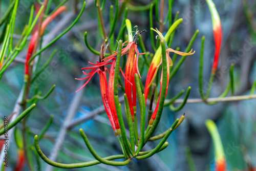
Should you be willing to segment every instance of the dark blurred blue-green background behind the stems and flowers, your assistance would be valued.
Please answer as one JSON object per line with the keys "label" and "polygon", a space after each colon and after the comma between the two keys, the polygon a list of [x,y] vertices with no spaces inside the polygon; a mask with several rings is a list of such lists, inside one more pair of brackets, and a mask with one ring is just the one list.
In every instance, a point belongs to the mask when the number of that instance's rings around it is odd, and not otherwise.
{"label": "dark blurred blue-green background behind the stems and flowers", "polygon": [[[58,25],[61,20],[65,20],[68,15],[74,11],[74,2],[67,3],[68,12],[61,14],[47,28],[44,40],[49,38],[48,33],[56,27],[66,28],[67,26]],[[251,84],[255,79],[256,72],[256,20],[255,20],[255,1],[234,0],[234,1],[214,1],[220,14],[223,27],[222,49],[220,54],[219,69],[222,66],[230,67],[231,62],[234,63],[234,74],[236,83],[236,95],[245,95],[250,93]],[[53,1],[51,10],[59,4],[60,1]],[[131,1],[134,6],[146,5],[150,1]],[[167,14],[168,2],[165,1],[164,17]],[[29,5],[28,5],[29,4]],[[109,31],[109,6],[112,1],[106,1],[103,10],[103,19],[106,31]],[[31,1],[21,0],[20,5],[24,7],[28,5],[30,9]],[[82,5],[78,1],[78,11]],[[7,6],[6,1],[2,1],[1,14]],[[28,126],[32,133],[38,134],[50,118],[50,114],[54,114],[53,124],[46,133],[46,137],[41,140],[40,146],[42,151],[49,156],[54,153],[52,149],[59,130],[63,124],[63,120],[67,114],[75,91],[81,85],[81,81],[74,78],[80,78],[81,68],[88,66],[88,61],[95,62],[97,55],[92,54],[84,44],[84,31],[88,32],[90,45],[96,50],[100,50],[103,40],[98,30],[98,22],[94,1],[87,1],[86,11],[83,13],[77,25],[65,36],[61,37],[46,52],[42,53],[40,65],[44,63],[51,55],[54,49],[57,53],[45,71],[44,75],[36,81],[36,86],[44,93],[47,92],[52,84],[56,84],[56,89],[47,100],[38,103],[37,108],[30,114]],[[181,26],[176,31],[172,48],[180,47],[184,51],[188,41],[194,32],[199,29],[199,35],[193,45],[196,54],[187,57],[184,65],[182,65],[178,74],[172,79],[169,86],[168,97],[175,96],[180,90],[191,86],[189,98],[200,98],[198,91],[198,75],[199,75],[199,55],[201,46],[201,37],[206,36],[204,51],[204,83],[209,80],[211,64],[214,57],[214,38],[212,34],[211,16],[203,0],[174,1],[172,10],[173,17],[176,12],[180,11],[180,18],[183,18]],[[73,14],[76,16],[77,14]],[[150,30],[149,27],[149,11],[135,12],[129,11],[129,18],[133,25],[137,25],[139,30]],[[15,34],[18,36],[22,30],[19,25],[24,26],[29,17],[29,10],[18,16],[15,25]],[[74,18],[74,17],[73,17]],[[155,18],[155,16],[154,16]],[[71,23],[72,20],[69,22]],[[117,30],[119,30],[121,20],[118,20]],[[159,28],[157,22],[154,27]],[[20,27],[23,28],[23,27]],[[167,31],[168,24],[164,26]],[[58,33],[55,33],[55,36]],[[115,37],[117,32],[115,33]],[[143,41],[146,49],[153,52],[149,32],[143,33]],[[247,47],[247,49],[245,48]],[[248,48],[249,47],[249,48]],[[20,53],[17,58],[24,60],[26,51]],[[57,64],[56,64],[57,62]],[[16,97],[22,88],[24,78],[24,64],[15,62],[4,74],[0,82],[0,113],[1,116],[10,115],[14,106]],[[218,72],[217,72],[218,73]],[[146,72],[142,73],[144,78]],[[142,76],[143,77],[143,76]],[[219,72],[214,82],[210,97],[217,97],[226,88],[228,83],[227,72]],[[145,81],[145,80],[143,80]],[[161,153],[145,160],[132,161],[127,166],[113,167],[103,164],[91,166],[88,168],[70,169],[70,170],[189,170],[185,157],[184,147],[189,146],[193,155],[197,170],[213,170],[214,169],[214,151],[212,141],[205,127],[205,119],[212,119],[217,122],[219,132],[221,134],[224,151],[228,163],[228,170],[246,170],[247,164],[251,163],[256,166],[256,100],[246,100],[240,102],[218,103],[215,105],[207,105],[204,103],[186,104],[180,112],[170,112],[165,108],[161,123],[158,126],[157,133],[165,131],[173,120],[181,114],[186,113],[186,119],[179,128],[172,134],[169,139],[169,146]],[[86,116],[90,111],[102,105],[99,78],[94,76],[88,86],[84,88],[82,98],[74,119]],[[20,126],[18,124],[18,126]],[[57,161],[63,163],[82,162],[84,160],[92,160],[93,156],[89,153],[86,145],[83,143],[78,129],[82,127],[89,136],[91,143],[101,156],[120,154],[120,147],[111,130],[110,123],[105,114],[94,117],[91,120],[82,122],[81,124],[68,131],[63,141]],[[33,136],[30,136],[32,143]],[[14,141],[13,141],[14,142]],[[12,143],[13,143],[12,142]],[[154,147],[156,143],[149,143],[149,147]],[[15,165],[16,149],[12,144],[10,149],[10,168]],[[41,160],[42,170],[45,170],[46,163]],[[28,168],[25,168],[27,170]],[[56,169],[65,170],[65,169]]]}

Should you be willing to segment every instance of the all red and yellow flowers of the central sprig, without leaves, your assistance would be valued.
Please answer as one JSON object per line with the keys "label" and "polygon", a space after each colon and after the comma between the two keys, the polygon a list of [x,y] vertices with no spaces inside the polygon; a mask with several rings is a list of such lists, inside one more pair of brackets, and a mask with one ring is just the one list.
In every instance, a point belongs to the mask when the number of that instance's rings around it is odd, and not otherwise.
{"label": "all red and yellow flowers of the central sprig, without leaves", "polygon": [[[156,30],[155,30],[156,31]],[[144,31],[142,31],[144,32]],[[127,43],[127,41],[124,42],[122,45],[124,48],[121,50],[121,55],[127,54],[127,59],[126,59],[126,66],[125,66],[125,73],[124,73],[124,89],[125,89],[125,94],[127,96],[127,100],[129,102],[129,106],[127,108],[130,108],[131,111],[131,117],[132,121],[135,121],[134,118],[134,113],[136,112],[136,86],[135,86],[135,74],[137,73],[140,76],[139,70],[138,70],[138,55],[144,54],[144,53],[139,53],[137,44],[138,44],[138,38],[140,34],[142,33],[139,31],[135,32],[135,35],[133,37],[133,41],[130,41]],[[163,38],[162,34],[157,30],[156,31],[160,37]],[[164,38],[163,38],[164,40]],[[126,45],[127,43],[127,45]],[[89,62],[92,67],[86,67],[82,68],[82,70],[90,70],[92,69],[91,72],[86,73],[83,72],[85,75],[88,75],[85,78],[76,78],[78,80],[84,80],[87,79],[86,83],[83,84],[83,86],[80,88],[82,89],[84,86],[88,84],[90,79],[93,77],[94,74],[98,73],[100,77],[100,89],[101,89],[101,96],[102,96],[102,101],[105,106],[105,111],[106,114],[108,115],[112,128],[115,132],[116,135],[120,135],[120,125],[118,122],[118,117],[117,117],[117,112],[116,112],[116,106],[115,106],[115,101],[114,101],[114,76],[115,76],[115,68],[116,68],[116,55],[117,52],[114,52],[113,55],[109,57],[105,57],[105,51],[106,47],[108,45],[104,46],[104,44],[101,47],[100,55],[99,55],[99,61],[97,63],[91,63]],[[129,52],[128,52],[129,51]],[[192,51],[192,50],[191,50]],[[167,49],[166,50],[166,59],[167,59],[167,78],[169,78],[169,66],[172,66],[172,59],[169,57],[169,52],[175,52],[180,55],[191,55],[194,53],[183,53],[179,51],[175,51],[173,49]],[[159,54],[161,57],[161,53]],[[112,62],[111,62],[112,60]],[[150,69],[147,74],[147,79],[146,79],[146,84],[145,84],[145,100],[148,95],[148,89],[151,86],[151,83],[154,81],[155,76],[157,74],[157,70],[159,66],[161,65],[161,61],[159,63],[156,63],[155,61],[152,61]],[[105,68],[106,65],[111,65],[110,71],[109,71],[109,82],[107,81],[106,78],[106,71],[108,69]],[[120,70],[122,73],[122,70]],[[123,73],[122,73],[123,74]],[[167,89],[168,89],[168,82],[169,79],[167,79]],[[160,80],[160,86],[162,89],[162,77]],[[78,89],[77,91],[79,91]],[[161,91],[161,90],[160,90]],[[161,94],[161,92],[160,92]],[[167,92],[166,92],[167,94]],[[159,98],[160,99],[160,98]],[[150,124],[153,124],[156,114],[158,111],[158,106],[159,106],[159,101],[157,103],[156,109],[152,115],[151,122]]]}

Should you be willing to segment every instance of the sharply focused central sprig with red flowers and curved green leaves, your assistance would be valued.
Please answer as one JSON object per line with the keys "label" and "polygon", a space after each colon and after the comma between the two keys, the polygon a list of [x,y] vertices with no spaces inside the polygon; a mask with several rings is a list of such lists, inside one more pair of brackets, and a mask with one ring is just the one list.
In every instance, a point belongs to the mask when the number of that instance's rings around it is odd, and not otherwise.
{"label": "sharply focused central sprig with red flowers and curved green leaves", "polygon": [[[84,163],[76,163],[76,164],[62,164],[57,163],[54,161],[51,161],[48,159],[41,151],[39,145],[38,145],[38,136],[35,136],[35,147],[39,154],[39,156],[48,164],[56,166],[56,167],[62,167],[62,168],[76,168],[76,167],[86,167],[91,166],[99,163],[104,163],[108,165],[115,165],[115,166],[121,166],[128,164],[133,158],[136,159],[145,159],[148,157],[151,157],[155,153],[158,153],[162,151],[164,148],[167,147],[168,142],[166,142],[169,135],[181,124],[181,122],[184,119],[184,115],[180,117],[180,119],[177,119],[173,125],[164,133],[157,135],[155,137],[152,137],[153,133],[156,130],[156,127],[160,121],[161,115],[163,113],[163,107],[164,107],[164,100],[167,94],[168,90],[168,84],[169,84],[169,68],[173,65],[172,59],[169,57],[169,52],[175,52],[180,55],[192,55],[195,52],[191,53],[192,50],[189,53],[179,52],[175,51],[173,49],[167,48],[167,42],[165,38],[168,38],[168,36],[177,28],[177,23],[174,23],[172,27],[168,30],[165,37],[158,31],[157,29],[153,29],[158,33],[158,37],[160,39],[161,45],[158,48],[158,51],[155,55],[155,58],[153,58],[150,70],[148,71],[147,81],[145,84],[145,90],[142,94],[141,89],[141,76],[138,69],[138,56],[142,55],[144,53],[139,53],[139,50],[137,48],[138,40],[140,37],[140,34],[143,33],[139,32],[137,29],[135,31],[134,36],[132,36],[132,28],[131,28],[131,22],[129,19],[126,19],[126,26],[127,30],[130,31],[130,39],[122,43],[122,40],[118,41],[118,48],[117,51],[114,52],[113,55],[110,55],[108,57],[105,57],[105,51],[108,48],[108,44],[105,45],[105,42],[101,46],[101,51],[99,54],[99,61],[97,63],[91,63],[89,62],[92,67],[86,67],[82,68],[82,70],[92,70],[89,73],[83,72],[83,74],[87,75],[85,78],[80,78],[78,80],[84,80],[87,79],[86,83],[83,84],[83,86],[80,88],[82,89],[85,87],[90,79],[93,77],[94,74],[98,73],[100,78],[100,90],[101,90],[101,96],[102,101],[104,104],[104,108],[106,111],[106,114],[109,117],[110,123],[112,125],[112,129],[114,131],[115,136],[117,137],[117,140],[120,144],[120,147],[122,149],[123,154],[122,155],[115,155],[115,156],[109,156],[102,158],[100,157],[92,145],[90,144],[86,134],[83,132],[82,129],[80,129],[80,133],[82,138],[84,139],[84,142],[86,143],[87,147],[89,148],[91,154],[95,157],[96,161],[91,162],[84,162]],[[178,21],[179,22],[179,21]],[[137,27],[136,27],[137,28]],[[127,54],[126,59],[126,66],[125,66],[125,72],[123,74],[122,69],[120,68],[120,62],[121,57],[123,55]],[[110,66],[110,70],[106,68],[106,66]],[[157,102],[157,106],[151,116],[150,122],[147,124],[147,128],[145,130],[145,115],[146,115],[146,100],[148,95],[148,88],[151,86],[152,82],[154,81],[156,77],[156,73],[159,67],[162,67],[162,74],[161,74],[161,80],[160,80],[160,94]],[[106,71],[109,71],[109,78],[107,78]],[[130,131],[130,140],[126,136],[125,127],[124,127],[124,121],[122,117],[122,109],[121,109],[121,103],[119,102],[119,93],[118,93],[118,77],[119,72],[123,74],[124,77],[124,101],[125,101],[125,116],[126,121],[129,125],[129,131]],[[79,91],[78,89],[77,91]],[[155,92],[153,92],[154,94]],[[139,101],[139,114],[140,114],[140,135],[139,130],[137,126],[137,100]],[[151,103],[153,100],[151,100]],[[152,105],[152,104],[150,104]],[[148,111],[151,113],[151,110]],[[160,143],[151,151],[141,152],[142,147],[147,143],[148,140],[154,141],[161,139]],[[111,161],[114,159],[119,158],[125,158],[125,161]]]}

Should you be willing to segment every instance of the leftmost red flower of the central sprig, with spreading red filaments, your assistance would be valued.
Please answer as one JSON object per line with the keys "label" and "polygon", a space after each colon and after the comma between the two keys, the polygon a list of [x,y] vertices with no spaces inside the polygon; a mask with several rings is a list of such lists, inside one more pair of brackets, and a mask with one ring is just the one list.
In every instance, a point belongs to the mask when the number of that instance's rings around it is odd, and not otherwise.
{"label": "leftmost red flower of the central sprig, with spreading red filaments", "polygon": [[[89,75],[86,78],[81,78],[81,79],[76,78],[78,80],[88,79],[86,83],[84,83],[83,86],[79,88],[77,91],[79,91],[84,86],[86,86],[94,74],[96,73],[99,74],[100,91],[101,91],[104,108],[105,108],[106,114],[110,119],[112,129],[114,130],[114,133],[117,136],[117,135],[120,135],[120,125],[118,122],[115,101],[114,101],[114,75],[115,75],[115,68],[116,68],[116,58],[115,58],[116,53],[114,55],[104,58],[104,54],[107,47],[108,45],[106,45],[105,47],[104,47],[104,44],[102,45],[99,62],[97,61],[96,64],[89,62],[91,65],[93,65],[93,67],[82,68],[84,70],[92,69],[92,71],[90,73],[83,72],[84,74]],[[105,61],[102,61],[103,59]],[[110,60],[112,60],[112,62],[109,62]],[[105,72],[108,69],[106,69],[104,66],[109,64],[111,64],[111,69],[110,69],[110,77],[109,77],[109,84],[108,84],[108,81],[106,79],[106,72]]]}

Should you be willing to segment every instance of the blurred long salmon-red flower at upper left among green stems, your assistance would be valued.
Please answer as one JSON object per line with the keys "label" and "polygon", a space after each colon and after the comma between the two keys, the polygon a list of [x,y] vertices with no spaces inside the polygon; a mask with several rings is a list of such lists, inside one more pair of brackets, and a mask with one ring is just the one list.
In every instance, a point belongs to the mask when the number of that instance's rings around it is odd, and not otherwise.
{"label": "blurred long salmon-red flower at upper left among green stems", "polygon": [[[67,7],[65,6],[61,6],[59,7],[51,16],[48,16],[44,22],[42,22],[42,26],[41,26],[41,31],[40,31],[40,36],[42,36],[42,34],[44,34],[46,27],[49,25],[49,23],[52,22],[52,20],[59,15],[61,12],[65,11],[67,9]],[[35,31],[35,33],[33,34],[30,42],[29,42],[29,48],[28,48],[28,52],[27,52],[27,57],[26,57],[26,62],[25,62],[25,76],[29,74],[29,60],[32,56],[34,47],[35,47],[35,41],[36,38],[38,36],[38,30]]]}

